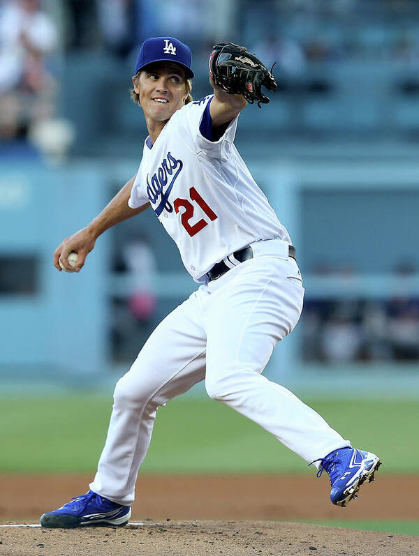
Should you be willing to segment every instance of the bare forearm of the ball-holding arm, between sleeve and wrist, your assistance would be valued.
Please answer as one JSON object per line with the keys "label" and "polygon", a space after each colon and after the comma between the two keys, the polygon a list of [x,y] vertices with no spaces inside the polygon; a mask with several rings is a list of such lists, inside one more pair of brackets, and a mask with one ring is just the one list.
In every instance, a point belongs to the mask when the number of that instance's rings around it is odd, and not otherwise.
{"label": "bare forearm of the ball-holding arm, between sleeve and wrist", "polygon": [[91,220],[88,228],[96,239],[110,227],[128,218],[132,218],[149,206],[149,203],[139,206],[138,209],[131,209],[131,207],[128,206],[128,199],[131,195],[134,180],[135,176],[118,191],[117,195],[105,206],[103,211],[101,211],[96,218]]}

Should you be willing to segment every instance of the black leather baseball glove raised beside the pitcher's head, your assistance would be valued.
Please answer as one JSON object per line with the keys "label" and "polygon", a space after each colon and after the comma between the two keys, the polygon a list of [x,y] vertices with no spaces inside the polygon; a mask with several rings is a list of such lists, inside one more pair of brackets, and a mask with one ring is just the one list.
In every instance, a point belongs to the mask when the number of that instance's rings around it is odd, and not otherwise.
{"label": "black leather baseball glove raised beside the pitcher's head", "polygon": [[277,83],[263,63],[244,46],[234,43],[217,43],[210,56],[210,76],[217,87],[231,95],[243,95],[248,103],[269,103],[263,94],[264,85],[270,91],[277,90]]}

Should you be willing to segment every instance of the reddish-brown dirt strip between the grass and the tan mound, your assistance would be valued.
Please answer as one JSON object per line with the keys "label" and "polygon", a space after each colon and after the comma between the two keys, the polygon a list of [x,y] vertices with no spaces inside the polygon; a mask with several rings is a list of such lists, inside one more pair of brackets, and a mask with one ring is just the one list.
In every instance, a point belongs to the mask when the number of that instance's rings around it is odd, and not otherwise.
{"label": "reddish-brown dirt strip between the grass and the tan mound", "polygon": [[[85,493],[91,475],[0,475],[0,521],[38,520]],[[324,479],[324,480],[323,480]],[[330,503],[329,481],[298,475],[141,475],[133,521],[419,520],[419,476],[378,475],[347,508]],[[1,556],[1,550],[0,550]]]}

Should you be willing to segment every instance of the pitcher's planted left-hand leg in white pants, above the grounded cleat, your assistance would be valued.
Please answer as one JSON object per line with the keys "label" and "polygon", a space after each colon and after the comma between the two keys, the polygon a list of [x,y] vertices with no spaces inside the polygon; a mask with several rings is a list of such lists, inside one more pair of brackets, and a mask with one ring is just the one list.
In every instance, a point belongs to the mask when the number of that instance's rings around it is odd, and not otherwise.
{"label": "pitcher's planted left-hand leg in white pants, above the grounded cleat", "polygon": [[108,437],[90,488],[118,504],[133,502],[157,407],[205,376],[205,333],[193,313],[191,318],[192,305],[185,301],[157,326],[117,382]]}

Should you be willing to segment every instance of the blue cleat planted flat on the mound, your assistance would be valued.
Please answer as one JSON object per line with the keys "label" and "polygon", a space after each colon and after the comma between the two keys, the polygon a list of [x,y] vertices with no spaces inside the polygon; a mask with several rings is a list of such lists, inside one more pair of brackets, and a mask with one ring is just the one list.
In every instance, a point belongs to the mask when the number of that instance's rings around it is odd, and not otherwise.
{"label": "blue cleat planted flat on the mound", "polygon": [[42,527],[79,527],[80,525],[126,525],[130,506],[121,506],[89,490],[61,508],[41,516]]}

